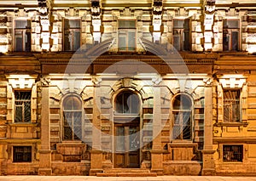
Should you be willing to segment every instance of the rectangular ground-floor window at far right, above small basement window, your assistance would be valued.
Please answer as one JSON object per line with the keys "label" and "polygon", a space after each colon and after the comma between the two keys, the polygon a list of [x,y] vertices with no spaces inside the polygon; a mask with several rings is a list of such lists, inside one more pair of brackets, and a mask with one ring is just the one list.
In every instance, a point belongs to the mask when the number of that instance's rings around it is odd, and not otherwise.
{"label": "rectangular ground-floor window at far right, above small basement window", "polygon": [[240,89],[224,89],[224,122],[240,122]]}

